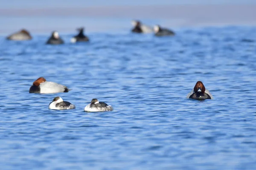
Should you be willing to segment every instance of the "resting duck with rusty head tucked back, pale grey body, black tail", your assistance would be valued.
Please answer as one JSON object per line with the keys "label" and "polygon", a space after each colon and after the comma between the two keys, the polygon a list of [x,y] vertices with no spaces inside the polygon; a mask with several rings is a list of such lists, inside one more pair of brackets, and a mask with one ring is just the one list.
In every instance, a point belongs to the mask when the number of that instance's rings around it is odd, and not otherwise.
{"label": "resting duck with rusty head tucked back, pale grey body, black tail", "polygon": [[67,93],[70,89],[64,85],[55,82],[48,82],[44,77],[39,77],[33,82],[29,88],[29,93],[52,94],[52,93]]}

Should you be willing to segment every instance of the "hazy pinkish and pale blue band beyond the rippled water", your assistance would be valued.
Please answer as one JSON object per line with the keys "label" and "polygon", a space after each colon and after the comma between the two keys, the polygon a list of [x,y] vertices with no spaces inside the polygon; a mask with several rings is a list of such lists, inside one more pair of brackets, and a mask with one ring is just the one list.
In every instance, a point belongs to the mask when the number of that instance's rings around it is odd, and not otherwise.
{"label": "hazy pinkish and pale blue band beyond the rippled water", "polygon": [[169,28],[204,26],[255,26],[256,5],[94,6],[81,8],[0,8],[0,34],[21,28],[48,33],[130,29],[130,21]]}

